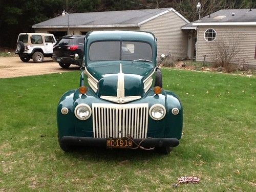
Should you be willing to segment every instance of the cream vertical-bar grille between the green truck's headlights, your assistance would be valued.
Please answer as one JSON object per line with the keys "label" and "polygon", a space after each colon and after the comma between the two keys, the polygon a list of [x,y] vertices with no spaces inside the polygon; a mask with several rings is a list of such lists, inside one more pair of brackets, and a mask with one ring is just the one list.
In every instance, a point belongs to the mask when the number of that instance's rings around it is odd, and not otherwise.
{"label": "cream vertical-bar grille between the green truck's headlights", "polygon": [[94,138],[146,138],[148,104],[93,103]]}

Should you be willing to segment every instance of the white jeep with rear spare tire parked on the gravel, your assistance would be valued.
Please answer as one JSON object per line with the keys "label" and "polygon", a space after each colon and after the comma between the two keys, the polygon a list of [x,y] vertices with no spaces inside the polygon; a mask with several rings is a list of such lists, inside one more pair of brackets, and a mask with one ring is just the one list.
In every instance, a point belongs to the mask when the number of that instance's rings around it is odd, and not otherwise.
{"label": "white jeep with rear spare tire parked on the gravel", "polygon": [[56,39],[50,33],[20,33],[18,35],[15,54],[20,60],[42,62],[44,57],[51,57]]}

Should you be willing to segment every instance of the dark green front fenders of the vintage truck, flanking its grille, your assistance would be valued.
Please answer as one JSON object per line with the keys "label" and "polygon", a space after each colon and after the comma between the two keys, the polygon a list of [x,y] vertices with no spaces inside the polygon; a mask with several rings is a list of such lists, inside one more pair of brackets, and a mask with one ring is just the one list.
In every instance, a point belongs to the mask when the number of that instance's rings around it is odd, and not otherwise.
{"label": "dark green front fenders of the vintage truck, flanking its grille", "polygon": [[[110,102],[98,98],[91,88],[88,87],[87,89],[86,95],[79,94],[79,90],[72,90],[61,97],[57,111],[58,127],[63,129],[59,130],[60,137],[66,133],[69,133],[69,136],[93,137],[92,116],[86,121],[81,121],[75,117],[74,109],[80,103],[87,103],[92,107],[92,103]],[[73,97],[72,100],[71,97]],[[181,138],[183,111],[179,99],[172,92],[163,91],[162,94],[155,95],[153,89],[150,89],[143,98],[130,102],[130,104],[132,103],[148,103],[149,108],[155,103],[160,103],[167,109],[162,120],[156,121],[148,117],[148,137]],[[66,106],[71,113],[62,115],[60,112],[62,106]],[[174,107],[180,110],[178,115],[172,114],[171,111]]]}

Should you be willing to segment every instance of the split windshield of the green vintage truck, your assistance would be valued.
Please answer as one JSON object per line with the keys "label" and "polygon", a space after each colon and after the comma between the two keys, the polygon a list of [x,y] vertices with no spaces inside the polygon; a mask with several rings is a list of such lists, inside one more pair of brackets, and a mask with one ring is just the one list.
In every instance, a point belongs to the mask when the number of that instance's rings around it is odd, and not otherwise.
{"label": "split windshield of the green vintage truck", "polygon": [[91,61],[130,60],[152,61],[152,48],[141,41],[96,41],[89,49]]}

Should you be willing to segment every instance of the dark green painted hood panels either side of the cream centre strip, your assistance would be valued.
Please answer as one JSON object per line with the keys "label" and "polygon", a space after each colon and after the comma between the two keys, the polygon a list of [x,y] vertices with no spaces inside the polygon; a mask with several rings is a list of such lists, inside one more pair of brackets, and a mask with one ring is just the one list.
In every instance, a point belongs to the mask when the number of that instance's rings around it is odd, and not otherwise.
{"label": "dark green painted hood panels either side of the cream centre strip", "polygon": [[[125,96],[144,95],[143,80],[153,73],[154,67],[147,62],[125,61],[121,62],[122,73],[124,74]],[[116,96],[117,95],[117,78],[120,72],[120,61],[104,61],[89,65],[87,70],[98,81],[97,95]]]}

